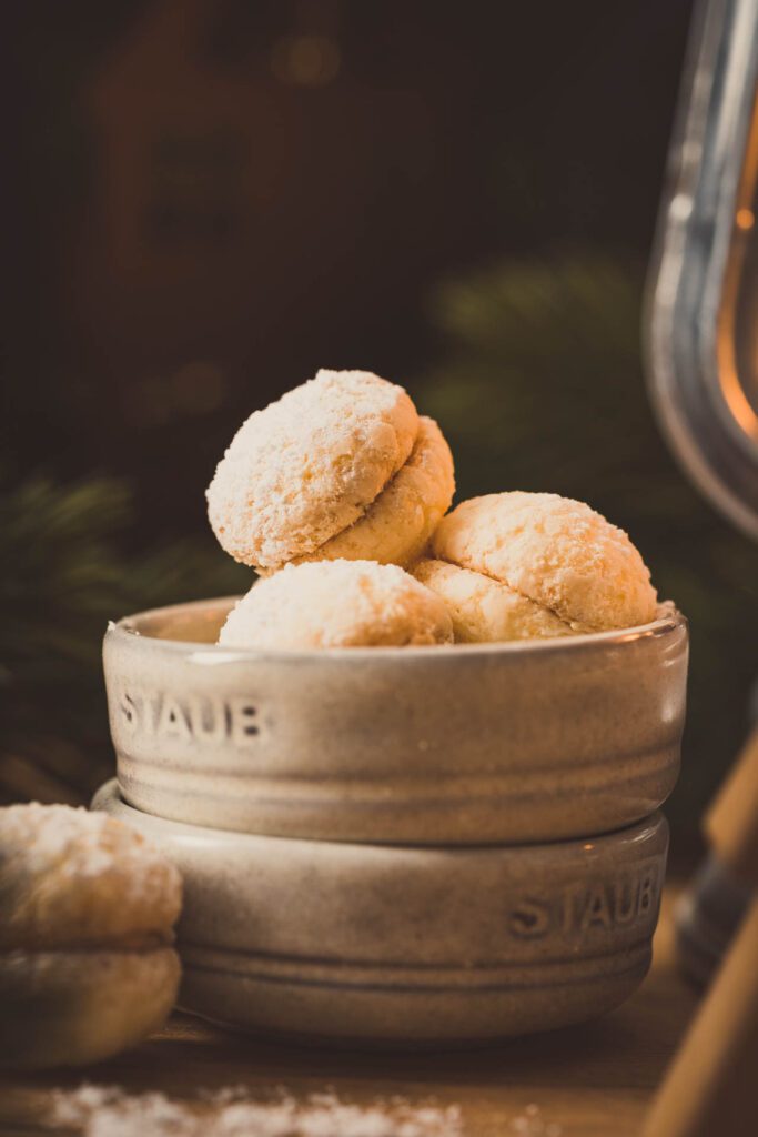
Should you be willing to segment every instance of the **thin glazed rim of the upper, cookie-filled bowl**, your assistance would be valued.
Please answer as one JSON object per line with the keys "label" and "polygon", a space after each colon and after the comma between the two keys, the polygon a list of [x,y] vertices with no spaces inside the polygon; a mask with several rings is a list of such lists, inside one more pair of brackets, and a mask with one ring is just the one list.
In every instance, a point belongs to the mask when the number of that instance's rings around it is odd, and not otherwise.
{"label": "thin glazed rim of the upper, cookie-filled bowl", "polygon": [[166,639],[159,636],[144,634],[139,624],[156,617],[169,617],[172,614],[192,612],[193,609],[236,604],[241,596],[209,597],[201,600],[189,600],[184,604],[170,604],[158,608],[147,608],[133,615],[123,616],[118,621],[109,621],[105,636],[106,644],[140,645],[141,650],[184,656],[194,663],[260,663],[264,661],[283,663],[285,661],[313,663],[323,661],[357,659],[450,659],[466,656],[482,658],[490,656],[518,657],[524,654],[553,655],[556,653],[584,653],[618,646],[622,644],[657,640],[684,631],[688,621],[672,600],[658,604],[656,620],[632,628],[616,628],[601,632],[580,632],[576,636],[556,636],[545,639],[503,640],[492,644],[435,644],[408,645],[405,647],[326,647],[326,648],[240,648],[225,647],[220,644],[208,644],[199,640]]}

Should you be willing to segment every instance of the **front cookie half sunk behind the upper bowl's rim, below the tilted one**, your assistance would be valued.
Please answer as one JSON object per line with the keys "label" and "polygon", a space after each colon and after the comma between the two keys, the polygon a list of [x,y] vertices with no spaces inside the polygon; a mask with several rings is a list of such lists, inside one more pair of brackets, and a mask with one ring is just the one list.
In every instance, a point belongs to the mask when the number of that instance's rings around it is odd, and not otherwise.
{"label": "front cookie half sunk behind the upper bowl's rim, below the tilted one", "polygon": [[397,565],[317,561],[258,581],[232,609],[225,647],[326,648],[449,644],[442,600]]}

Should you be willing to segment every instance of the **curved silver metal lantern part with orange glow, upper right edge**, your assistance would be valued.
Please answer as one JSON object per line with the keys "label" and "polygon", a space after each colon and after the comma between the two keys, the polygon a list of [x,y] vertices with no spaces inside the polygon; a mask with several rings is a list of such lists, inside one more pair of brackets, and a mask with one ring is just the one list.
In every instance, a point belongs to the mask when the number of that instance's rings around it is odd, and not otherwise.
{"label": "curved silver metal lantern part with orange glow, upper right edge", "polygon": [[688,474],[758,537],[758,0],[695,8],[648,292],[653,404]]}

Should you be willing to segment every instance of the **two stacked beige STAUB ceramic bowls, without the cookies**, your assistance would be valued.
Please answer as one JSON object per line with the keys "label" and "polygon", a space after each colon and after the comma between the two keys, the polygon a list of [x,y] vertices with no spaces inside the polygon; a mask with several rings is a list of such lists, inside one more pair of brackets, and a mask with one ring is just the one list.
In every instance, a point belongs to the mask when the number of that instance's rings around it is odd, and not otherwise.
{"label": "two stacked beige STAUB ceramic bowls, without the cookies", "polygon": [[686,626],[503,644],[227,649],[233,601],[122,621],[95,806],[181,869],[182,1005],[374,1045],[619,1004],[650,961]]}

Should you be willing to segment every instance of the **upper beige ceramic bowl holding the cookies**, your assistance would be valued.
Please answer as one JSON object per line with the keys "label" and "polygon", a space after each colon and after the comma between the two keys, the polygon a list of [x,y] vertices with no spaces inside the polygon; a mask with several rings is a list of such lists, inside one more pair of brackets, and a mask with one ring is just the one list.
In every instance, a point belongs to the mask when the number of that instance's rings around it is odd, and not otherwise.
{"label": "upper beige ceramic bowl holding the cookies", "polygon": [[686,623],[455,647],[230,650],[232,600],[105,641],[131,805],[282,837],[485,844],[607,832],[678,771]]}

